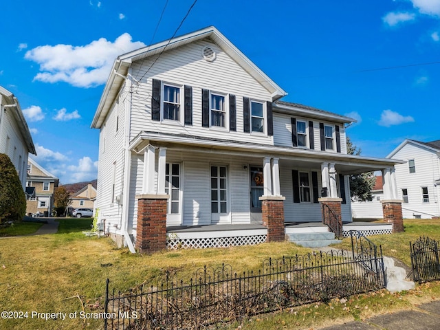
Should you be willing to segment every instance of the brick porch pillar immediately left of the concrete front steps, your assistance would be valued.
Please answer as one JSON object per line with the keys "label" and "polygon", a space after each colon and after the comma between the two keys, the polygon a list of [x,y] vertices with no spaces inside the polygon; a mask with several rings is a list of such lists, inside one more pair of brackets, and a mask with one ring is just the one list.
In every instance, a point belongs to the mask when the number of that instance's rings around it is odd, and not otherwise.
{"label": "brick porch pillar immediately left of the concrete front steps", "polygon": [[285,241],[283,196],[262,196],[263,225],[267,228],[266,242]]}

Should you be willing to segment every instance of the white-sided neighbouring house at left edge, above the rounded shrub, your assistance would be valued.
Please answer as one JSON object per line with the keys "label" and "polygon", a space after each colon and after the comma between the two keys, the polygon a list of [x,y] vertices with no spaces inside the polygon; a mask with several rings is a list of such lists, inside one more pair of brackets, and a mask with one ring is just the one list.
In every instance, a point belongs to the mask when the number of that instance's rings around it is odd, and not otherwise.
{"label": "white-sided neighbouring house at left edge, above the rounded shrub", "polygon": [[34,142],[23,116],[19,100],[0,86],[0,153],[5,153],[17,168],[25,189],[28,155],[36,155]]}

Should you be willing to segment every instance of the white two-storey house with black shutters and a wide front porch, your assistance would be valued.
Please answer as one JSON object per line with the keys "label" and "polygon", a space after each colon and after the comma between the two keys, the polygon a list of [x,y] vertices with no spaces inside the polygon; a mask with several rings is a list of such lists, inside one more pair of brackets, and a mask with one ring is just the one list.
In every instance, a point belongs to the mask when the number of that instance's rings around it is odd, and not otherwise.
{"label": "white two-storey house with black shutters and a wide front porch", "polygon": [[352,221],[347,175],[395,160],[347,155],[355,120],[285,95],[213,27],[116,58],[91,124],[111,236],[133,248],[139,198],[166,199],[168,228],[261,223],[265,200],[285,222],[321,222],[325,198]]}

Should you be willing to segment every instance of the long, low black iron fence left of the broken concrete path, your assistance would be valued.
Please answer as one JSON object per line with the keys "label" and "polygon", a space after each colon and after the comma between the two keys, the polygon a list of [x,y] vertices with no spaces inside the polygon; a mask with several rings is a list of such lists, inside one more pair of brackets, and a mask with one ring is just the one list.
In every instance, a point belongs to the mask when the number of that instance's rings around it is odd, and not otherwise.
{"label": "long, low black iron fence left of the broken concrete path", "polygon": [[352,242],[351,253],[267,259],[258,272],[242,274],[230,265],[203,267],[188,283],[166,274],[160,285],[111,296],[107,280],[104,329],[201,329],[385,287],[382,251],[360,234]]}

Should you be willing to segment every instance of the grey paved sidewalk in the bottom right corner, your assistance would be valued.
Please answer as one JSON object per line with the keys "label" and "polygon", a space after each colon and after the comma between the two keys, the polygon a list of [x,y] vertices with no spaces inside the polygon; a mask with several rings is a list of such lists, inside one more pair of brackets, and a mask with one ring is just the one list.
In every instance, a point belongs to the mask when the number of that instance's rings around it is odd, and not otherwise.
{"label": "grey paved sidewalk in the bottom right corner", "polygon": [[320,330],[437,330],[440,329],[440,300],[412,309],[373,316],[362,321],[316,328]]}

